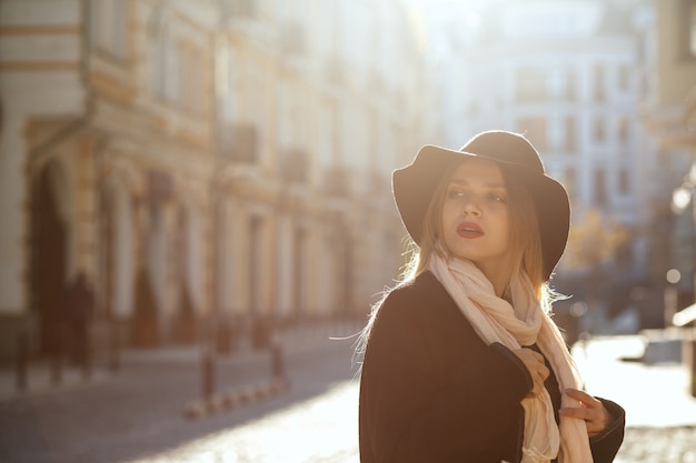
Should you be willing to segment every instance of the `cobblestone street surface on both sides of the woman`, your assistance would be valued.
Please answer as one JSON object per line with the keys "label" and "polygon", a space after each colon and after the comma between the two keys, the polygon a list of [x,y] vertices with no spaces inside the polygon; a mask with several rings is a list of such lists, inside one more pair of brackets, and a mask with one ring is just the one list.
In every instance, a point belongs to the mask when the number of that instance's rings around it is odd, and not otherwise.
{"label": "cobblestone street surface on both sides of the woman", "polygon": [[[619,363],[617,356],[635,344],[635,339],[597,340],[576,352],[590,392],[626,406],[628,429],[616,462],[696,462],[696,400],[679,393],[684,371]],[[200,397],[196,358],[131,355],[109,381],[0,402],[0,461],[357,462],[351,345],[352,340],[326,339],[289,349],[288,391],[195,420],[185,417],[183,405]],[[266,353],[220,359],[218,390],[267,378],[269,371]],[[649,393],[642,392],[646,387]],[[655,410],[662,413],[650,417]]]}

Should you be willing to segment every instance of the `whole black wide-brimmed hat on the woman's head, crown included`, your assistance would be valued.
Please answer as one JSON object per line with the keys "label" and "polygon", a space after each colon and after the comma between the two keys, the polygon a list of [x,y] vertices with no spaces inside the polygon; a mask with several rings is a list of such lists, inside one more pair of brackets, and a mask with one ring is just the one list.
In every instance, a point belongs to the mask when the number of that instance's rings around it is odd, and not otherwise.
{"label": "whole black wide-brimmed hat on the woman's head, crown included", "polygon": [[548,280],[563,255],[570,229],[568,192],[544,170],[537,150],[523,135],[500,130],[479,133],[460,151],[425,145],[414,161],[392,175],[394,199],[404,227],[420,245],[424,219],[443,175],[451,173],[467,157],[495,161],[505,178],[515,178],[531,193],[544,253],[544,278]]}

